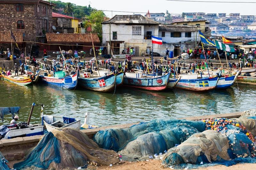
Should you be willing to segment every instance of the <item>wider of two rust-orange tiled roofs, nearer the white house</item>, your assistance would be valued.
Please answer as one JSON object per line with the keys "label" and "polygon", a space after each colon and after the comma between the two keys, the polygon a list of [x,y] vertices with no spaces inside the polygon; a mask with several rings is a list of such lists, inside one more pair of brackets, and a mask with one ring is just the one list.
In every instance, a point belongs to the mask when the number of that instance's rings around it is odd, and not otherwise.
{"label": "wider of two rust-orange tiled roofs, nearer the white house", "polygon": [[97,33],[92,33],[92,38],[89,33],[46,33],[48,43],[100,43]]}

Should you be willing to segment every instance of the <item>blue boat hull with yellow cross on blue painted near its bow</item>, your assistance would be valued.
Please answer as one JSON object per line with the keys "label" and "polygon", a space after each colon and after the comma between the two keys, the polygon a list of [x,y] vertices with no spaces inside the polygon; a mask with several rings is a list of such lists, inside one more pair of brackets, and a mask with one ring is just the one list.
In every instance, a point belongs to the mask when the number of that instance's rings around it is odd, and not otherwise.
{"label": "blue boat hull with yellow cross on blue painted near its bow", "polygon": [[200,79],[180,79],[176,87],[182,90],[206,92],[215,89],[219,78],[217,76]]}

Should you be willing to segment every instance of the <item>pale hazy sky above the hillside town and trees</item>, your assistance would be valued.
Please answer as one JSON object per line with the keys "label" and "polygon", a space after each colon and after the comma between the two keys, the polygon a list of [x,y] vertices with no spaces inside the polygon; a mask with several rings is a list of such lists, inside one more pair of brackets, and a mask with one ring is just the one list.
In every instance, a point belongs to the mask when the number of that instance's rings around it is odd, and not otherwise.
{"label": "pale hazy sky above the hillside town and trees", "polygon": [[[109,10],[104,13],[111,18],[115,15],[132,15],[133,12],[145,15],[150,13],[165,13],[168,10],[172,14],[181,14],[182,12],[205,12],[205,13],[240,13],[241,15],[256,15],[256,0],[202,0],[205,2],[177,2],[168,0],[61,0],[76,5],[88,6],[97,10]],[[200,0],[195,0],[200,1]],[[210,3],[209,1],[224,2],[242,2],[243,3]],[[126,12],[114,12],[126,11]],[[145,12],[145,13],[141,13]]]}

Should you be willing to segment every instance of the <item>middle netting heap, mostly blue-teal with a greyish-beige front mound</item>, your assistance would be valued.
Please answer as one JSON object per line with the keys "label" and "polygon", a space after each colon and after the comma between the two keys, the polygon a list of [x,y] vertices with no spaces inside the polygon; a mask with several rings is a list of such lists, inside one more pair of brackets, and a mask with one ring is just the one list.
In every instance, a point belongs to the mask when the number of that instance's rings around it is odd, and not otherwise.
{"label": "middle netting heap, mostly blue-teal with a greyish-beige front mound", "polygon": [[194,133],[205,130],[205,123],[187,120],[153,120],[130,128],[99,131],[93,140],[104,149],[119,151],[123,158],[142,159],[164,153]]}

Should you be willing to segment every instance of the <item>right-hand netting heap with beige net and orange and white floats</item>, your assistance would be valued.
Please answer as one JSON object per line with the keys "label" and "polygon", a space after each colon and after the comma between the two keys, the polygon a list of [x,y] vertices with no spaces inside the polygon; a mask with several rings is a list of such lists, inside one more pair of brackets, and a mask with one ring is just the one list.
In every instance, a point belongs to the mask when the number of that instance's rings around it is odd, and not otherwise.
{"label": "right-hand netting heap with beige net and orange and white floats", "polygon": [[205,123],[205,131],[196,133],[182,144],[169,149],[164,155],[164,164],[178,168],[195,164],[189,167],[197,168],[200,164],[214,165],[208,163],[226,166],[238,162],[256,163],[256,120],[240,117],[207,119],[201,122]]}

